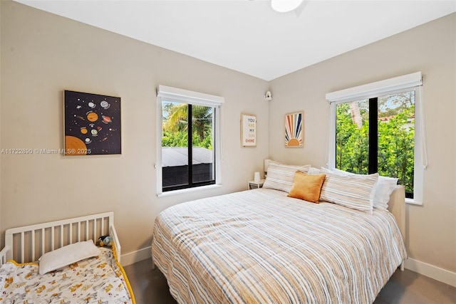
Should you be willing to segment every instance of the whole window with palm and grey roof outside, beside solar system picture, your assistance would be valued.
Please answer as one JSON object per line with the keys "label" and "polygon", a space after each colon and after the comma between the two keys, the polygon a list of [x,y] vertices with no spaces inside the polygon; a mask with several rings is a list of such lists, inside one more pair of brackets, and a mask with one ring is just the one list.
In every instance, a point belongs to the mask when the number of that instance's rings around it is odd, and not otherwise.
{"label": "whole window with palm and grey roof outside, beside solar system picture", "polygon": [[223,98],[159,86],[157,189],[219,184],[219,112]]}

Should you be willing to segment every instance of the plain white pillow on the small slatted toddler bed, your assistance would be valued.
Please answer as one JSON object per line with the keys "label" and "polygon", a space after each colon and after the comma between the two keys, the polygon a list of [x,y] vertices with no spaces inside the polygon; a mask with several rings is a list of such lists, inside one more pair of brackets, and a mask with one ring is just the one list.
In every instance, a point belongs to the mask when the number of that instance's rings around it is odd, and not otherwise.
{"label": "plain white pillow on the small slatted toddler bed", "polygon": [[55,271],[85,258],[98,255],[100,255],[100,249],[95,246],[92,240],[72,243],[44,253],[43,256],[38,258],[39,273],[43,275],[49,271]]}

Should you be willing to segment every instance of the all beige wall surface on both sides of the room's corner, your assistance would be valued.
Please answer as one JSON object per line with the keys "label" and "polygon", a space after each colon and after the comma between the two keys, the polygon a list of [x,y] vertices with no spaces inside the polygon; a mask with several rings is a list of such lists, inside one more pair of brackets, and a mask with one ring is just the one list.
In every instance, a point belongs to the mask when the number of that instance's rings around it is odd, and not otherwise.
{"label": "all beige wall surface on both sides of the room's corner", "polygon": [[[1,233],[12,226],[113,210],[123,253],[145,248],[159,211],[187,199],[245,189],[268,155],[323,166],[326,93],[420,70],[429,167],[424,205],[408,206],[408,253],[456,271],[456,14],[267,83],[14,2],[1,1],[0,7],[1,148],[63,147],[66,89],[120,96],[123,127],[118,156],[2,154]],[[222,188],[155,196],[158,84],[224,96]],[[269,86],[273,100],[268,107],[263,94]],[[304,148],[285,149],[284,115],[297,110],[304,110]],[[255,148],[240,147],[242,112],[257,115]]]}

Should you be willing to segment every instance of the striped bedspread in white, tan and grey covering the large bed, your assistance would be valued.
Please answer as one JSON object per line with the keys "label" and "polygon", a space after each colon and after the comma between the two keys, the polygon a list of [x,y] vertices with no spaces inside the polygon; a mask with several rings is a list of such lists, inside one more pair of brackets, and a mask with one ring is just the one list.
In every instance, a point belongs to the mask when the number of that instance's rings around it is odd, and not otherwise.
{"label": "striped bedspread in white, tan and grey covering the large bed", "polygon": [[388,211],[272,189],[172,206],[152,239],[178,303],[372,303],[405,255]]}

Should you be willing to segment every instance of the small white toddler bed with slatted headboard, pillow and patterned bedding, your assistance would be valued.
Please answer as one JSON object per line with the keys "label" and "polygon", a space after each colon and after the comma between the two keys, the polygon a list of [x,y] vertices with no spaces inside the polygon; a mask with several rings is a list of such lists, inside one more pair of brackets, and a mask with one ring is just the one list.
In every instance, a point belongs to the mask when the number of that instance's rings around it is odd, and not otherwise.
{"label": "small white toddler bed with slatted headboard, pillow and patterned bedding", "polygon": [[113,212],[8,229],[0,302],[135,304],[120,250]]}

